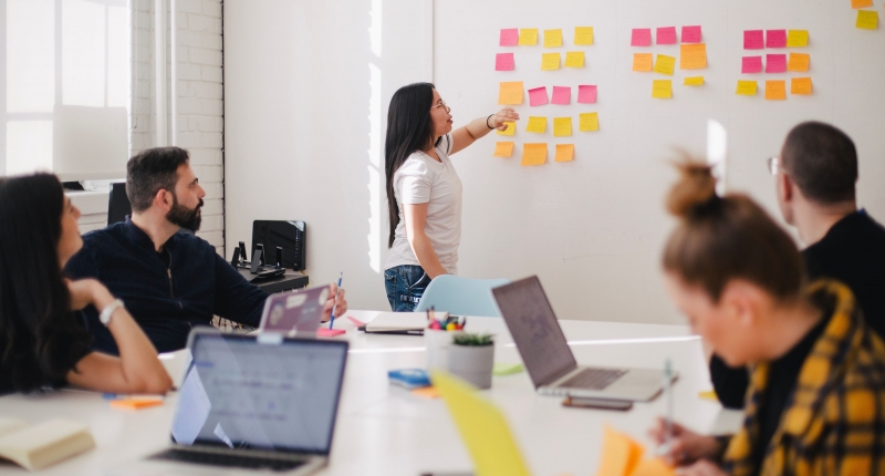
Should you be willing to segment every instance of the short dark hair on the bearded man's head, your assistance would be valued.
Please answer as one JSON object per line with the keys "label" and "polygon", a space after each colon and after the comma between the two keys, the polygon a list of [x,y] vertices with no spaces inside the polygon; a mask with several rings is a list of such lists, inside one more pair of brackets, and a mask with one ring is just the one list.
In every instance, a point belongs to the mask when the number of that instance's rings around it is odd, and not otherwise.
{"label": "short dark hair on the bearded man's head", "polygon": [[159,190],[175,194],[178,167],[188,163],[190,156],[180,147],[154,147],[129,158],[126,164],[126,196],[133,211],[150,208]]}

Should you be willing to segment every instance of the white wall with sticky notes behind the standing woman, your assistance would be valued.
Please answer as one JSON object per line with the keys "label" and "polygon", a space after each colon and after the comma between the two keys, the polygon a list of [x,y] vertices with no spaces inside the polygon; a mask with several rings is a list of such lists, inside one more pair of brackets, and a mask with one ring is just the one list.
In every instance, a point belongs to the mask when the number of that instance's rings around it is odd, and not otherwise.
{"label": "white wall with sticky notes behind the standing woman", "polygon": [[[428,6],[434,7],[429,24]],[[386,309],[377,265],[386,256],[379,166],[391,94],[430,79],[424,72],[426,37],[433,32],[433,80],[454,107],[456,126],[496,111],[498,82],[504,75],[493,71],[494,53],[510,51],[498,46],[498,31],[519,27],[563,28],[566,44],[573,27],[595,27],[596,44],[586,48],[589,66],[579,75],[540,76],[541,46],[516,50],[516,75],[527,86],[532,81],[550,86],[565,77],[598,84],[600,102],[589,111],[598,111],[602,130],[575,131],[572,164],[523,168],[518,158],[492,158],[493,137],[455,156],[465,184],[464,276],[516,279],[538,273],[561,318],[683,322],[664,296],[658,270],[671,226],[662,204],[674,177],[666,159],[673,146],[704,153],[708,118],[730,134],[731,188],[749,192],[772,214],[777,210],[764,159],[779,153],[787,131],[810,118],[844,128],[861,154],[860,201],[885,220],[885,188],[878,186],[885,176],[885,135],[878,132],[885,111],[885,90],[878,84],[885,76],[885,31],[854,29],[856,13],[847,4],[519,0],[508,6],[469,0],[228,0],[229,242],[248,241],[252,219],[304,219],[312,282],[330,281],[343,270],[353,308]],[[371,41],[378,28],[372,12],[378,10],[381,54]],[[684,24],[704,27],[708,69],[698,73],[707,85],[687,90],[675,81],[674,100],[653,101],[650,81],[664,76],[631,72],[632,53],[648,50],[628,46],[629,30]],[[761,94],[735,96],[740,56],[750,54],[741,49],[742,30],[774,28],[810,30],[805,52],[812,55],[815,94],[788,95],[778,103]],[[653,51],[678,55],[678,46]],[[381,75],[381,94],[373,87],[372,71]],[[677,70],[674,80],[684,73]],[[759,75],[760,84],[767,77],[778,79]],[[523,117],[576,118],[584,112],[572,107],[556,114],[555,107],[545,107],[525,104],[518,110]],[[529,142],[524,125],[516,139]],[[565,142],[550,134],[544,141]]]}

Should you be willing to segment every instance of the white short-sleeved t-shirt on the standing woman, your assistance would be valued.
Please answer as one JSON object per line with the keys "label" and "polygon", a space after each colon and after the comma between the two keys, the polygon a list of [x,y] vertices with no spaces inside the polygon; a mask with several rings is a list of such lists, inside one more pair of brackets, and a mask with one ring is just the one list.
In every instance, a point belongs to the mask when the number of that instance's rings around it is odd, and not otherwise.
{"label": "white short-sleeved t-shirt on the standing woman", "polygon": [[394,245],[385,269],[402,265],[420,266],[406,237],[405,205],[427,204],[424,231],[439,263],[449,275],[458,272],[458,245],[461,242],[461,179],[449,161],[451,134],[436,147],[441,162],[424,152],[415,152],[394,173],[394,196],[399,208]]}

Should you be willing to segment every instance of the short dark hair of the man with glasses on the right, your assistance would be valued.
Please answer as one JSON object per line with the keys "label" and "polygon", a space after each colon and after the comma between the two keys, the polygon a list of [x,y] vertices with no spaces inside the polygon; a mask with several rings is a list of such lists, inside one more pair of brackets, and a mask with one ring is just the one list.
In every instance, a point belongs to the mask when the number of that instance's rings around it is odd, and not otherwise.
{"label": "short dark hair of the man with glasses on the right", "polygon": [[793,127],[783,143],[781,163],[809,199],[824,205],[854,200],[857,152],[851,138],[832,125],[804,122]]}

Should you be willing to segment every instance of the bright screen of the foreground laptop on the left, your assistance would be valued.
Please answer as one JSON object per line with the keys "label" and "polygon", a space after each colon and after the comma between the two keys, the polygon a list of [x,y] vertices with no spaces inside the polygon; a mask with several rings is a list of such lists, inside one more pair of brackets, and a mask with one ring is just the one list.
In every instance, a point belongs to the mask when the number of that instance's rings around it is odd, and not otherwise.
{"label": "bright screen of the foreground laptop on the left", "polygon": [[195,332],[173,442],[327,455],[347,342]]}

